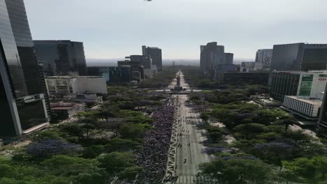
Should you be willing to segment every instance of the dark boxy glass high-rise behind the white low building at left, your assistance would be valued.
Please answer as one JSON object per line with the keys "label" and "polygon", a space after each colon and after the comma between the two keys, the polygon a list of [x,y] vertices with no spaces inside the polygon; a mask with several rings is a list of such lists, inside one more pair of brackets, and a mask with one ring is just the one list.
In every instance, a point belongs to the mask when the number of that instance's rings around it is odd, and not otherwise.
{"label": "dark boxy glass high-rise behind the white low building at left", "polygon": [[71,40],[34,40],[45,76],[87,75],[84,46]]}

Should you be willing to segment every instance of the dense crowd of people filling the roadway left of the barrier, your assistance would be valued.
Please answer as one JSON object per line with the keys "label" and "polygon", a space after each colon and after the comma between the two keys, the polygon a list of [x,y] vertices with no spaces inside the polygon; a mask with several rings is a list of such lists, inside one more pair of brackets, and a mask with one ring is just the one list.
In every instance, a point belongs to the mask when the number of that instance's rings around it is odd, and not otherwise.
{"label": "dense crowd of people filling the roadway left of the barrier", "polygon": [[173,99],[168,100],[153,114],[153,128],[145,133],[143,148],[137,153],[138,165],[144,168],[136,178],[137,184],[161,183],[166,173],[168,148],[174,121],[173,101]]}

